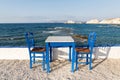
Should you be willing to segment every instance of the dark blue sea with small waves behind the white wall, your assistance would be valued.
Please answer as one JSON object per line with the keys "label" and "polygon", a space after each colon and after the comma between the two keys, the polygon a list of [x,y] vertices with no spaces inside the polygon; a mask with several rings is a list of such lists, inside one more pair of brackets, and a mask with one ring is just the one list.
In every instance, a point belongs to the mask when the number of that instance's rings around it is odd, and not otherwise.
{"label": "dark blue sea with small waves behind the white wall", "polygon": [[87,37],[96,32],[95,46],[120,46],[120,25],[117,24],[64,24],[64,23],[0,23],[0,47],[27,47],[25,33],[33,32],[35,45],[45,46],[48,36],[72,36],[76,46],[86,46]]}

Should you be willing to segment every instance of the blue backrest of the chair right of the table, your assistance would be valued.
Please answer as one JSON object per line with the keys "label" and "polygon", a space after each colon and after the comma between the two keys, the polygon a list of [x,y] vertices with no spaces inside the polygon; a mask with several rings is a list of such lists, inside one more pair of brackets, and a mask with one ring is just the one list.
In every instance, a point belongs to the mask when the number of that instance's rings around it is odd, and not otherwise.
{"label": "blue backrest of the chair right of the table", "polygon": [[91,53],[93,52],[94,43],[96,41],[96,33],[92,32],[88,36],[88,45]]}

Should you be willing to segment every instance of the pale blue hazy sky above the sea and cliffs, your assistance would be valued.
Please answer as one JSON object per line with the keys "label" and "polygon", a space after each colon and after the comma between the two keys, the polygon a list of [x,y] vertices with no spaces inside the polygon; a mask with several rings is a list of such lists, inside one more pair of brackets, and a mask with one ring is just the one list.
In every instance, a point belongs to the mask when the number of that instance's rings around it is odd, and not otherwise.
{"label": "pale blue hazy sky above the sea and cliffs", "polygon": [[0,23],[87,21],[120,17],[120,0],[0,0]]}

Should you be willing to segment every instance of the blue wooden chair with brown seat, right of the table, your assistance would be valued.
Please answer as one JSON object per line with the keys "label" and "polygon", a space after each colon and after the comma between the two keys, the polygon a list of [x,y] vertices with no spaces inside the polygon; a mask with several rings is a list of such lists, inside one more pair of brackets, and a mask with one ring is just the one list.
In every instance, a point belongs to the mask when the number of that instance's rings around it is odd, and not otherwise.
{"label": "blue wooden chair with brown seat, right of the table", "polygon": [[[96,33],[92,32],[88,36],[87,47],[76,47],[76,70],[78,70],[78,64],[89,64],[89,70],[92,69],[92,53],[96,40]],[[79,59],[86,59],[86,62],[80,62]]]}

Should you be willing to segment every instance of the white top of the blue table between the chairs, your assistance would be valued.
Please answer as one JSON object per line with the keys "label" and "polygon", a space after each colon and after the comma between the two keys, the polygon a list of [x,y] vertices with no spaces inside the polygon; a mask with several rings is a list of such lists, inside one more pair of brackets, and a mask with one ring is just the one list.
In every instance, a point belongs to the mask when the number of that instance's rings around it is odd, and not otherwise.
{"label": "white top of the blue table between the chairs", "polygon": [[45,42],[74,42],[71,36],[49,36]]}

